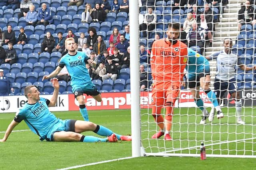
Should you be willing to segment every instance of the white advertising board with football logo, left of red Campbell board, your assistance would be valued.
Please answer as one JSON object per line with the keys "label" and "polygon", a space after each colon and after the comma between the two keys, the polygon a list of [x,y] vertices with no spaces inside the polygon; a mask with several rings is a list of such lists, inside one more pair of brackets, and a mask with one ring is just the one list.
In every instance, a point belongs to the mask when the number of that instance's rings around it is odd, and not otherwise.
{"label": "white advertising board with football logo, left of red Campbell board", "polygon": [[[40,97],[49,99],[52,95],[41,95]],[[26,104],[27,98],[25,96],[1,96],[0,97],[0,113],[17,112]],[[50,111],[68,111],[68,95],[58,95],[55,107],[49,107]]]}

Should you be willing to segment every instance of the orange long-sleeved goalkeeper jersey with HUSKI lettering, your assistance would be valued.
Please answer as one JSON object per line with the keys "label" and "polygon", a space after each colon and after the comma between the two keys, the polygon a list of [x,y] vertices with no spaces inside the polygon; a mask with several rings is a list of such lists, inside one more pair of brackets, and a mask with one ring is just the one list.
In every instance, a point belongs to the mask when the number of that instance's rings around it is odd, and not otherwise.
{"label": "orange long-sleeved goalkeeper jersey with HUSKI lettering", "polygon": [[187,55],[187,46],[180,41],[175,44],[166,39],[155,41],[150,57],[154,83],[181,81],[187,63]]}

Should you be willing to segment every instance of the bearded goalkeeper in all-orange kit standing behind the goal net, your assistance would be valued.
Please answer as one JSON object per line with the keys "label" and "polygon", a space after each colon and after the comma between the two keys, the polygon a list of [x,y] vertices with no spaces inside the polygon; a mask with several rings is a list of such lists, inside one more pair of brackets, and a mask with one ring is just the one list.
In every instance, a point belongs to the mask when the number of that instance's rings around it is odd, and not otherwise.
{"label": "bearded goalkeeper in all-orange kit standing behind the goal net", "polygon": [[[173,107],[180,92],[183,72],[187,63],[187,46],[180,42],[180,24],[170,23],[166,32],[167,38],[157,40],[152,45],[150,63],[152,78],[152,115],[160,127],[160,131],[152,139],[164,135],[170,141]],[[166,108],[165,117],[161,115],[162,107]]]}

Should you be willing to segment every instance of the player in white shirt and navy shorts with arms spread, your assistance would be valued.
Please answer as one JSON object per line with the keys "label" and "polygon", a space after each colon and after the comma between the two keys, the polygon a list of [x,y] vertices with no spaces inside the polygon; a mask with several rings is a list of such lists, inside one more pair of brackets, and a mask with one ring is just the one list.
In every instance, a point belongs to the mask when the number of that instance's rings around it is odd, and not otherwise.
{"label": "player in white shirt and navy shorts with arms spread", "polygon": [[[238,124],[245,124],[242,120],[242,101],[240,100],[240,95],[236,91],[238,86],[236,84],[235,74],[236,66],[239,66],[241,70],[256,70],[256,66],[248,67],[240,61],[240,58],[232,53],[232,39],[226,38],[223,41],[224,50],[221,51],[218,55],[213,54],[212,56],[216,57],[206,57],[208,60],[216,59],[217,61],[217,70],[216,78],[214,81],[214,91],[220,103],[220,99],[223,98],[225,92],[228,90],[232,98],[235,99],[236,104],[236,116]],[[214,109],[214,108],[213,108]],[[214,111],[211,111],[211,113]],[[210,116],[209,116],[210,117]]]}

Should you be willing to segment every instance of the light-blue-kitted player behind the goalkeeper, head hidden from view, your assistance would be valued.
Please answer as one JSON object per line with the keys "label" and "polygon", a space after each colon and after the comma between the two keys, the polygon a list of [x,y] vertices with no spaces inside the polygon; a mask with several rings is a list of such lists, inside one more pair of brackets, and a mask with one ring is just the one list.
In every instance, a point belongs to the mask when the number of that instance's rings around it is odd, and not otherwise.
{"label": "light-blue-kitted player behind the goalkeeper, head hidden from view", "polygon": [[[199,96],[200,86],[204,89],[204,92],[207,94],[208,98],[212,102],[214,108],[217,111],[217,118],[220,119],[224,117],[216,96],[212,90],[210,90],[210,64],[209,61],[199,53],[196,53],[194,50],[188,48],[188,63],[186,66],[188,71],[188,87],[192,93],[194,101],[198,108],[202,111],[203,117],[200,121],[200,124],[205,124],[206,119],[209,116],[208,111],[204,107],[204,102]],[[209,121],[213,120],[213,113],[210,114]]]}

